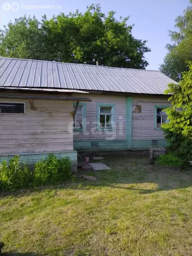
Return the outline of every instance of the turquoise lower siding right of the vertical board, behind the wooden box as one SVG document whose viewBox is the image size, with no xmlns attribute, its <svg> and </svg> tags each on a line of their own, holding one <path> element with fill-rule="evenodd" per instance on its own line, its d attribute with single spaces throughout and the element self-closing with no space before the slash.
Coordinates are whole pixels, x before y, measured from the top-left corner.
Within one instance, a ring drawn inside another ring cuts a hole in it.
<svg viewBox="0 0 192 256">
<path fill-rule="evenodd" d="M 153 139 L 154 140 L 154 139 Z M 152 140 L 132 140 L 132 150 L 145 150 L 149 149 L 150 146 L 152 147 L 168 147 L 169 144 L 166 140 L 156 140 L 157 144 L 153 145 Z"/>
</svg>

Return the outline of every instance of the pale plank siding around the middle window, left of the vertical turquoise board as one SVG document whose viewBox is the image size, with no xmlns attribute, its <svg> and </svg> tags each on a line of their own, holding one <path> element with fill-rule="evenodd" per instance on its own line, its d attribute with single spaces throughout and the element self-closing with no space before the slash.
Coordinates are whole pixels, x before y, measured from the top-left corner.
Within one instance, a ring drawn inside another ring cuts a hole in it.
<svg viewBox="0 0 192 256">
<path fill-rule="evenodd" d="M 74 94 L 74 96 L 77 96 Z M 75 141 L 112 141 L 126 140 L 126 95 L 120 94 L 89 94 L 91 102 L 86 103 L 86 131 L 74 131 Z M 97 122 L 97 103 L 115 104 L 115 130 L 98 131 Z"/>
</svg>

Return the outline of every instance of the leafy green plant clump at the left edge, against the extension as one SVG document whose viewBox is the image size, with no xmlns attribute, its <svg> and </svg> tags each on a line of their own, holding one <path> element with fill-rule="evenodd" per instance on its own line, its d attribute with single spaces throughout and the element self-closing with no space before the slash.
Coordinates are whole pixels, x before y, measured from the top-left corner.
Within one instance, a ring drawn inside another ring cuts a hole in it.
<svg viewBox="0 0 192 256">
<path fill-rule="evenodd" d="M 32 181 L 32 172 L 28 165 L 20 164 L 19 156 L 14 156 L 0 164 L 0 190 L 16 190 L 27 187 Z"/>
</svg>

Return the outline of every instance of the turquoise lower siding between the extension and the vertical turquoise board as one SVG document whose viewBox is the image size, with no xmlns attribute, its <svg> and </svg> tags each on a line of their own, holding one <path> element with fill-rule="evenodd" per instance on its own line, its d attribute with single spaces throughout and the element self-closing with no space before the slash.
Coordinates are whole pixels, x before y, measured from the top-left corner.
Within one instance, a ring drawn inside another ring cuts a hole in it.
<svg viewBox="0 0 192 256">
<path fill-rule="evenodd" d="M 74 141 L 74 149 L 79 152 L 127 150 L 127 141 Z"/>
</svg>

